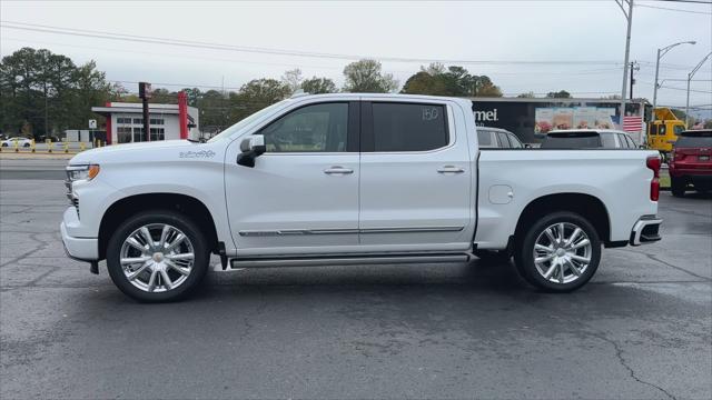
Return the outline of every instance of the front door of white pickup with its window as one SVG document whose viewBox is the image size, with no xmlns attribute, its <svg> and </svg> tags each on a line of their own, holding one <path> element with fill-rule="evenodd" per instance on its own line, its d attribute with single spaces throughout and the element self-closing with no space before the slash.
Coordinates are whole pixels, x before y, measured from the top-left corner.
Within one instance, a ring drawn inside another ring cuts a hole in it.
<svg viewBox="0 0 712 400">
<path fill-rule="evenodd" d="M 226 160 L 238 254 L 336 252 L 358 244 L 357 129 L 357 103 L 310 103 L 255 132 L 265 137 L 267 151 L 254 168 Z"/>
</svg>

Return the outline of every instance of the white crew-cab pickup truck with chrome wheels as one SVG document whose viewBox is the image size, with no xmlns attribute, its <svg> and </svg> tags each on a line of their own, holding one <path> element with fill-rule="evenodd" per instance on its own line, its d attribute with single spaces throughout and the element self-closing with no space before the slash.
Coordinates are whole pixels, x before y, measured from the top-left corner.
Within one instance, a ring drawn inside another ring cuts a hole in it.
<svg viewBox="0 0 712 400">
<path fill-rule="evenodd" d="M 565 292 L 602 247 L 660 240 L 660 158 L 646 150 L 477 146 L 464 99 L 339 93 L 280 101 L 207 142 L 119 144 L 67 167 L 71 258 L 106 259 L 140 301 L 208 270 L 514 257 Z"/>
</svg>

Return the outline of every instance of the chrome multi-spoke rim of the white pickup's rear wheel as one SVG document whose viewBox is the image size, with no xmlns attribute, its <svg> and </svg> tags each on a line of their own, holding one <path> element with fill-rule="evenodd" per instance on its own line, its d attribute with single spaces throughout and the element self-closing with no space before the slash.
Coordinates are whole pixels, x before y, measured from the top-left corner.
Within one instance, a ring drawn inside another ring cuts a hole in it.
<svg viewBox="0 0 712 400">
<path fill-rule="evenodd" d="M 534 242 L 534 266 L 544 279 L 554 283 L 577 280 L 589 268 L 593 249 L 589 236 L 571 222 L 557 222 Z"/>
</svg>

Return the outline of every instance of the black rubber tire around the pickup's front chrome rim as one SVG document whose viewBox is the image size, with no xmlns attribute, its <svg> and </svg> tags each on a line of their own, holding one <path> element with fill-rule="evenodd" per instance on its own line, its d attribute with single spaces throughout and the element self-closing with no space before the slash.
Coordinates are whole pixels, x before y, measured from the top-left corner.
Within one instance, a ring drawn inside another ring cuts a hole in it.
<svg viewBox="0 0 712 400">
<path fill-rule="evenodd" d="M 195 254 L 188 278 L 177 288 L 162 292 L 148 292 L 131 284 L 120 262 L 123 241 L 140 227 L 152 223 L 169 224 L 182 231 Z M 107 269 L 111 280 L 125 294 L 140 302 L 168 302 L 186 298 L 205 278 L 209 262 L 210 251 L 202 231 L 189 218 L 168 210 L 146 211 L 128 218 L 116 229 L 107 243 Z"/>
</svg>

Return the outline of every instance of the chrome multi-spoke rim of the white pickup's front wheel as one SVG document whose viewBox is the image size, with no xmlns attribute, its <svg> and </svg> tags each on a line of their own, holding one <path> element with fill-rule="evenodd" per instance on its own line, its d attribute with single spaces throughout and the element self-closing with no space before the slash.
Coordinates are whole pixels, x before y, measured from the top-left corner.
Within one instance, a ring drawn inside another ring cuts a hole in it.
<svg viewBox="0 0 712 400">
<path fill-rule="evenodd" d="M 146 292 L 165 292 L 182 284 L 192 270 L 190 239 L 178 228 L 151 223 L 135 230 L 121 244 L 126 279 Z"/>
</svg>

